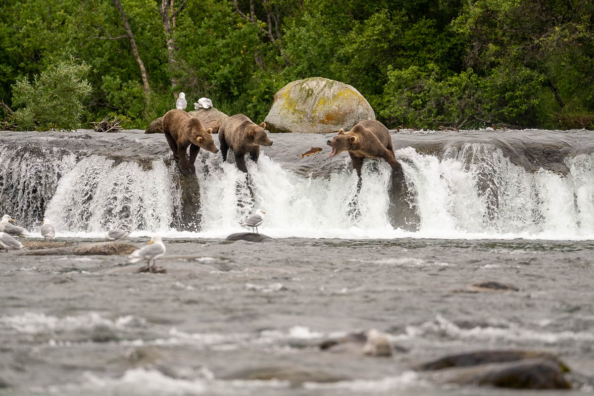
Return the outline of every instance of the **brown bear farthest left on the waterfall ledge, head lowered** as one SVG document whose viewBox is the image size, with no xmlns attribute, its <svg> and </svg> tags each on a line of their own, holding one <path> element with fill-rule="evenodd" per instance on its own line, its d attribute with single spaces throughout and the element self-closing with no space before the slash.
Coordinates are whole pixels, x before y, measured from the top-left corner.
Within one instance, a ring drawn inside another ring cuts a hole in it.
<svg viewBox="0 0 594 396">
<path fill-rule="evenodd" d="M 214 145 L 211 128 L 204 129 L 200 120 L 190 116 L 184 110 L 169 110 L 163 116 L 163 133 L 167 138 L 173 156 L 179 160 L 179 170 L 184 175 L 195 172 L 194 161 L 200 148 L 211 153 L 218 153 Z M 189 161 L 186 150 L 189 146 Z"/>
</svg>

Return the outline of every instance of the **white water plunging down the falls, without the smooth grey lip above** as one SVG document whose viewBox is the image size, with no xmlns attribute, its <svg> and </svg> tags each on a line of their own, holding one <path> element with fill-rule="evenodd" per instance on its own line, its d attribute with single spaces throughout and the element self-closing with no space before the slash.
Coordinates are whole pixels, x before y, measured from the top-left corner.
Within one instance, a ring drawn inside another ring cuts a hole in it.
<svg viewBox="0 0 594 396">
<path fill-rule="evenodd" d="M 281 143 L 290 147 L 292 138 Z M 138 152 L 147 151 L 142 144 Z M 365 162 L 356 197 L 357 178 L 348 156 L 325 174 L 304 176 L 289 157 L 279 158 L 280 151 L 262 154 L 257 164 L 248 161 L 249 176 L 201 151 L 199 191 L 193 195 L 199 205 L 188 214 L 167 151 L 139 161 L 54 147 L 20 152 L 0 146 L 5 165 L 0 169 L 0 209 L 30 229 L 48 217 L 63 236 L 99 236 L 108 227 L 130 226 L 133 235 L 225 237 L 245 230 L 239 221 L 257 208 L 267 213 L 260 231 L 272 237 L 594 236 L 592 154 L 566 157 L 568 172 L 560 175 L 527 172 L 488 143 L 444 145 L 432 155 L 400 148 L 396 157 L 419 216 L 418 230 L 409 232 L 390 225 L 393 197 L 386 163 Z M 194 218 L 198 227 L 180 227 L 180 216 Z"/>
</svg>

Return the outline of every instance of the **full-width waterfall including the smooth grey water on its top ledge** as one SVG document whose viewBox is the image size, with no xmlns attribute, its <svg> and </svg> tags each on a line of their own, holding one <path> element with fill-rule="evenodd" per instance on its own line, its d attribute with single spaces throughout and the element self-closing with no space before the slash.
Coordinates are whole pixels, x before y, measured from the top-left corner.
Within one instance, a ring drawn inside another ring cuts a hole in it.
<svg viewBox="0 0 594 396">
<path fill-rule="evenodd" d="M 328 157 L 331 135 L 271 135 L 247 180 L 204 150 L 184 178 L 163 135 L 139 132 L 2 132 L 0 212 L 30 229 L 45 214 L 61 236 L 131 226 L 132 236 L 224 237 L 257 208 L 273 237 L 594 236 L 589 131 L 393 133 L 406 197 L 391 194 L 390 167 L 377 161 L 366 161 L 356 197 L 347 154 Z M 301 159 L 312 146 L 324 150 Z"/>
</svg>

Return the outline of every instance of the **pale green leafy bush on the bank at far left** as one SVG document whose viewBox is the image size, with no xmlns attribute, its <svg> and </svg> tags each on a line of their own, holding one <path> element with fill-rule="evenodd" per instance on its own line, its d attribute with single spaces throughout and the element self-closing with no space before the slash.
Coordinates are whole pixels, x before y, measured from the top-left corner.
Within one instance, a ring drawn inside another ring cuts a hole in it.
<svg viewBox="0 0 594 396">
<path fill-rule="evenodd" d="M 12 103 L 24 107 L 14 113 L 14 122 L 25 130 L 75 129 L 80 125 L 83 100 L 91 93 L 84 80 L 89 65 L 71 59 L 50 67 L 39 76 L 24 77 L 14 85 Z"/>
</svg>

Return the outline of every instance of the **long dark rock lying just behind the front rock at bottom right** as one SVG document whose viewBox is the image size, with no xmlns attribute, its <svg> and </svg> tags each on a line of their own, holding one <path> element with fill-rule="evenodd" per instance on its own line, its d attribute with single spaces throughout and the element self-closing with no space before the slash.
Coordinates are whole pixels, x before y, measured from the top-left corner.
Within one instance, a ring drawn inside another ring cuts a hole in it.
<svg viewBox="0 0 594 396">
<path fill-rule="evenodd" d="M 563 371 L 569 371 L 568 367 L 552 353 L 523 350 L 486 350 L 448 355 L 416 366 L 415 370 L 441 370 L 451 367 L 477 366 L 485 363 L 515 362 L 523 359 L 551 360 L 556 362 Z"/>
</svg>

